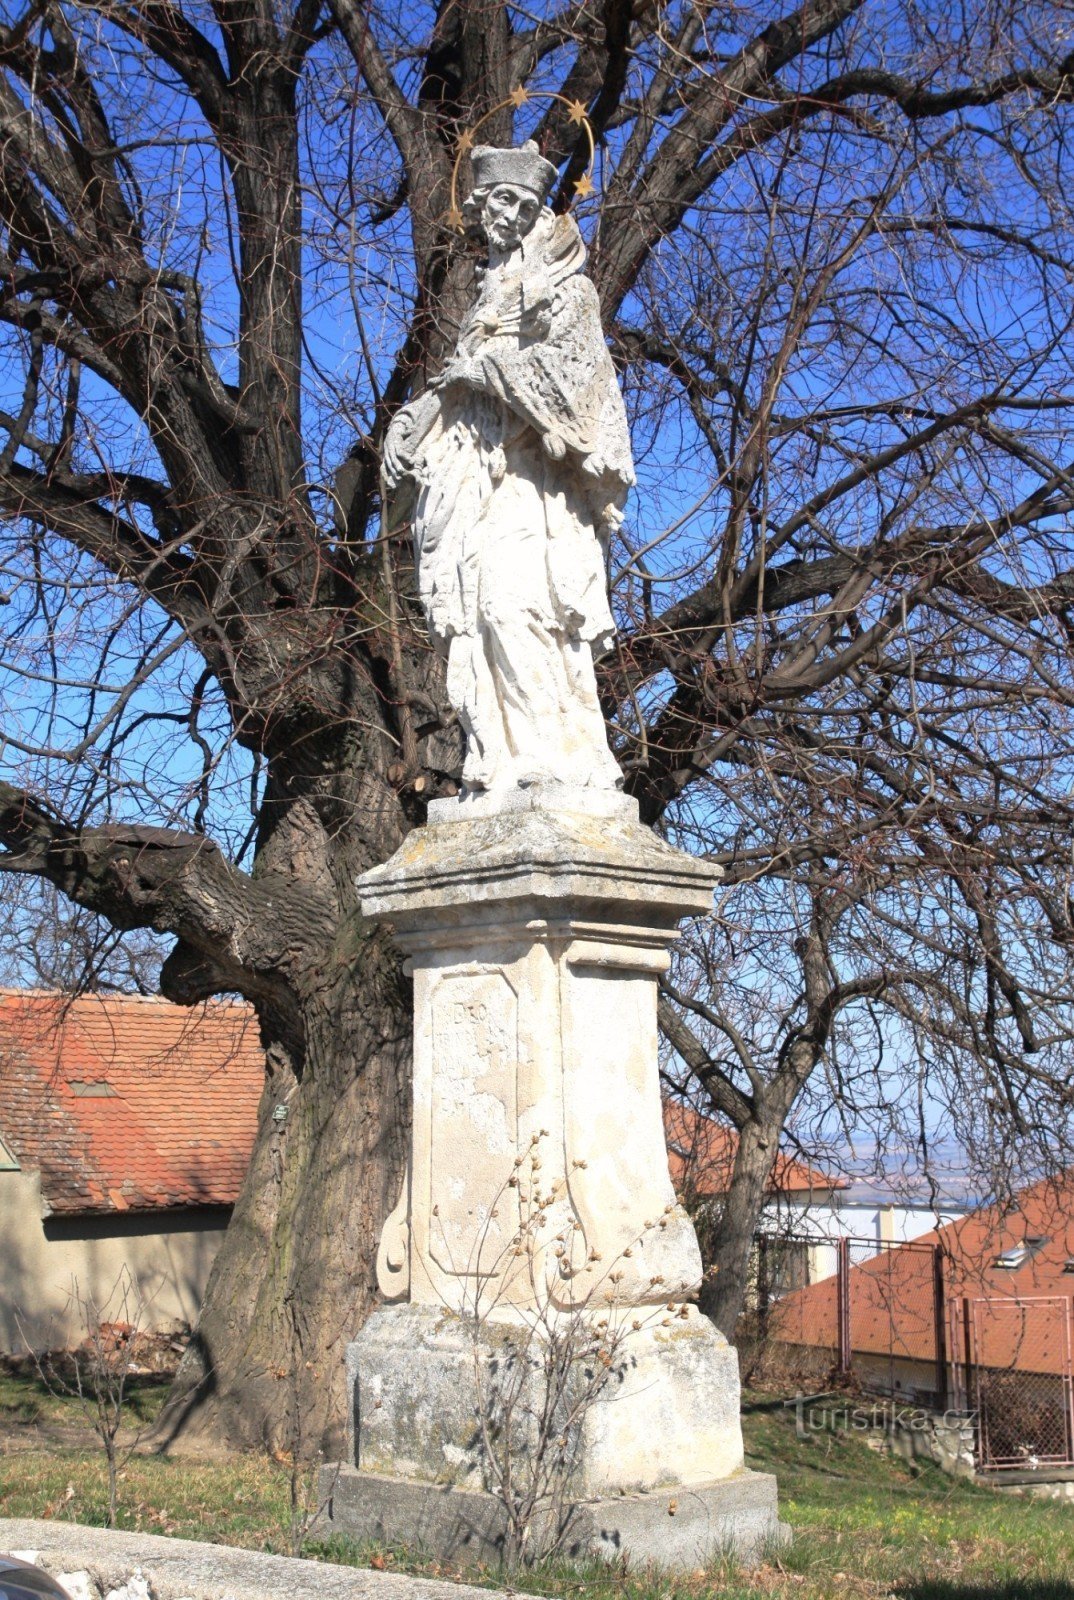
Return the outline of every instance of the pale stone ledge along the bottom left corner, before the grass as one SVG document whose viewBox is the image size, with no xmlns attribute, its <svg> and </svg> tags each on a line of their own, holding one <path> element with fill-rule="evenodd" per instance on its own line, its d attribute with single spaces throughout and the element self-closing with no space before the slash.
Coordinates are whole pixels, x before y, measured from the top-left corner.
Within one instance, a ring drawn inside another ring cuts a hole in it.
<svg viewBox="0 0 1074 1600">
<path fill-rule="evenodd" d="M 77 1571 L 99 1594 L 123 1589 L 141 1574 L 152 1600 L 488 1600 L 487 1589 L 467 1584 L 72 1522 L 0 1518 L 0 1550 L 32 1557 L 54 1576 Z"/>
</svg>

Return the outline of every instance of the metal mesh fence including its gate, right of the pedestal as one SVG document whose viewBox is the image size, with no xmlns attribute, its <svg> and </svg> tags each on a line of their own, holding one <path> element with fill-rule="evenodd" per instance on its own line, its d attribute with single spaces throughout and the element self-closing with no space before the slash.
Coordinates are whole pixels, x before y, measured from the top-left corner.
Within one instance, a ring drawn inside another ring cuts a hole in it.
<svg viewBox="0 0 1074 1600">
<path fill-rule="evenodd" d="M 759 1240 L 736 1344 L 760 1387 L 852 1387 L 973 1422 L 980 1470 L 1074 1466 L 1066 1296 L 949 1291 L 938 1243 Z"/>
</svg>

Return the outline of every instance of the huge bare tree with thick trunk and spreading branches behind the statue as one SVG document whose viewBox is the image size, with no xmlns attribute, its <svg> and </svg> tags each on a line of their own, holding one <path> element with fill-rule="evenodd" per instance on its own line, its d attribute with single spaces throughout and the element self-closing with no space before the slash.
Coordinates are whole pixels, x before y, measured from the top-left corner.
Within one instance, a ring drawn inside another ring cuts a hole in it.
<svg viewBox="0 0 1074 1600">
<path fill-rule="evenodd" d="M 304 1414 L 341 1432 L 410 1048 L 352 883 L 459 766 L 379 443 L 471 294 L 459 136 L 535 133 L 571 202 L 586 141 L 541 93 L 599 141 L 576 210 L 640 466 L 611 738 L 643 818 L 728 869 L 663 1011 L 739 1128 L 728 1238 L 810 1085 L 853 1114 L 880 1011 L 1042 1130 L 1069 1034 L 1063 6 L 27 0 L 0 66 L 0 866 L 168 936 L 162 990 L 248 997 L 267 1056 L 171 1427 L 279 1443 L 299 1306 L 336 1374 Z"/>
</svg>

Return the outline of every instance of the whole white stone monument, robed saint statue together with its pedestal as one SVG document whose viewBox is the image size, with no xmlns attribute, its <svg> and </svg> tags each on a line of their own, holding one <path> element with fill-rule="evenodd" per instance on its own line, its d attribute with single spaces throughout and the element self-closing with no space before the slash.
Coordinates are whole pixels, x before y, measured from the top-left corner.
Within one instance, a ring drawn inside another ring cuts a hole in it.
<svg viewBox="0 0 1074 1600">
<path fill-rule="evenodd" d="M 634 470 L 583 242 L 535 146 L 472 160 L 477 302 L 384 445 L 466 794 L 355 883 L 413 974 L 411 1118 L 322 1494 L 351 1538 L 451 1560 L 496 1560 L 525 1504 L 531 1552 L 693 1571 L 786 1531 L 743 1466 L 738 1357 L 691 1304 L 661 1114 L 658 982 L 720 869 L 642 826 L 597 704 Z"/>
</svg>

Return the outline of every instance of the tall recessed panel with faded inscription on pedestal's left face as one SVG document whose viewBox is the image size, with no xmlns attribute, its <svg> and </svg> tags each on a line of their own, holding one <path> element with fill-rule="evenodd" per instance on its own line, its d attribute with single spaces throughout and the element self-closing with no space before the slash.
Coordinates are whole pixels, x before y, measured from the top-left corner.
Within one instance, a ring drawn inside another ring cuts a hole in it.
<svg viewBox="0 0 1074 1600">
<path fill-rule="evenodd" d="M 445 1272 L 503 1272 L 517 1206 L 519 1003 L 503 973 L 458 973 L 432 997 L 429 1251 Z"/>
</svg>

